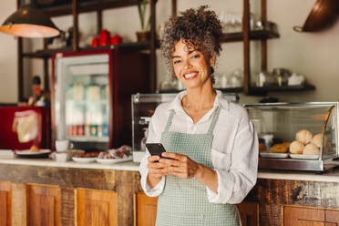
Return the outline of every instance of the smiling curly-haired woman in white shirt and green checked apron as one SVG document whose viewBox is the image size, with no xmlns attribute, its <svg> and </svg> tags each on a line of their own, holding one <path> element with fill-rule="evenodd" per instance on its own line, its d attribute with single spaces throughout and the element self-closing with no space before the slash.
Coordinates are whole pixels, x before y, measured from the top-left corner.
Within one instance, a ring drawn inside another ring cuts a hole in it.
<svg viewBox="0 0 339 226">
<path fill-rule="evenodd" d="M 159 105 L 149 124 L 148 142 L 167 152 L 140 164 L 143 189 L 159 196 L 157 225 L 240 225 L 233 204 L 256 182 L 258 140 L 247 112 L 212 87 L 220 38 L 207 6 L 170 18 L 161 36 L 169 69 L 187 90 Z"/>
</svg>

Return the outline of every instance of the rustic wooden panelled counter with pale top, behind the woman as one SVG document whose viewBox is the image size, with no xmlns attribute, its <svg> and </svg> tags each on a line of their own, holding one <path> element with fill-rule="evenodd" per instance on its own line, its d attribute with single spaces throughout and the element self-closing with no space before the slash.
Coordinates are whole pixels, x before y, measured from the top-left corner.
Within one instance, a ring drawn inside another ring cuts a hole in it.
<svg viewBox="0 0 339 226">
<path fill-rule="evenodd" d="M 157 200 L 142 192 L 138 170 L 133 162 L 0 159 L 0 209 L 6 212 L 0 225 L 153 225 Z M 338 179 L 339 169 L 323 175 L 261 170 L 239 206 L 241 220 L 261 226 L 339 225 Z"/>
</svg>

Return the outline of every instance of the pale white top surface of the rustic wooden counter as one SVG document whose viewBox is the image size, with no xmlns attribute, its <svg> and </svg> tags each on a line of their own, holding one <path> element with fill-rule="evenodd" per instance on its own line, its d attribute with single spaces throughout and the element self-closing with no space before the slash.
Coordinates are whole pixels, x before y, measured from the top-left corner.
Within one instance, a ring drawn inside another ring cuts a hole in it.
<svg viewBox="0 0 339 226">
<path fill-rule="evenodd" d="M 139 163 L 133 161 L 105 165 L 97 162 L 91 163 L 77 163 L 74 161 L 59 162 L 53 159 L 0 159 L 0 164 L 1 163 L 13 165 L 62 167 L 78 169 L 139 171 Z M 258 179 L 339 182 L 339 168 L 328 170 L 323 174 L 319 174 L 312 171 L 259 170 Z"/>
</svg>

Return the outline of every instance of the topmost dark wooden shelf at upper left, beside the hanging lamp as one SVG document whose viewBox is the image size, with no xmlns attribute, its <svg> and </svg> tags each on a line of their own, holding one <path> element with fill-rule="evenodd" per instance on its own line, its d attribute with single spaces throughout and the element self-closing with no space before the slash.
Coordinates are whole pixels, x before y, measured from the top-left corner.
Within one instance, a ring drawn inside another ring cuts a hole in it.
<svg viewBox="0 0 339 226">
<path fill-rule="evenodd" d="M 137 5 L 137 0 L 82 0 L 77 2 L 78 13 Z M 72 15 L 72 1 L 67 1 L 65 4 L 59 5 L 41 5 L 39 8 L 44 9 L 49 16 Z"/>
</svg>

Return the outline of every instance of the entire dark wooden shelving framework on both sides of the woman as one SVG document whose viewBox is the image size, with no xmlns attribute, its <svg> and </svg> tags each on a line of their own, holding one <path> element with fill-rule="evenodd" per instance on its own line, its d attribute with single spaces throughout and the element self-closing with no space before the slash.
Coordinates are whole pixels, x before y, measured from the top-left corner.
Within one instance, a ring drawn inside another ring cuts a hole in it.
<svg viewBox="0 0 339 226">
<path fill-rule="evenodd" d="M 19 0 L 17 0 L 19 2 Z M 150 55 L 150 76 L 152 78 L 152 90 L 156 90 L 157 87 L 157 58 L 156 49 L 159 47 L 159 41 L 156 35 L 156 2 L 157 0 L 149 0 L 150 7 L 150 31 L 151 36 L 149 42 L 144 43 L 124 43 L 115 46 L 100 46 L 96 48 L 136 48 L 140 50 L 149 49 Z M 271 30 L 250 30 L 250 0 L 243 0 L 243 18 L 242 18 L 242 32 L 224 34 L 221 38 L 221 42 L 243 42 L 243 85 L 242 87 L 225 88 L 222 89 L 225 92 L 244 92 L 248 95 L 266 95 L 267 92 L 275 91 L 304 91 L 313 90 L 315 87 L 306 84 L 303 87 L 252 87 L 251 86 L 251 71 L 250 71 L 250 41 L 257 40 L 261 42 L 261 70 L 267 71 L 267 40 L 271 38 L 279 38 L 279 34 Z M 41 58 L 44 60 L 44 77 L 45 77 L 45 89 L 48 89 L 48 58 L 53 56 L 57 52 L 67 51 L 82 51 L 88 50 L 88 48 L 78 47 L 78 14 L 87 12 L 97 12 L 98 17 L 98 32 L 102 30 L 102 11 L 105 9 L 119 8 L 125 6 L 137 5 L 137 0 L 71 0 L 71 3 L 63 5 L 54 5 L 43 9 L 50 16 L 59 15 L 73 15 L 73 43 L 71 47 L 60 49 L 47 49 L 46 42 L 43 50 L 39 50 L 33 53 L 23 52 L 22 38 L 18 41 L 18 81 L 19 81 L 19 99 L 23 100 L 23 58 Z M 171 13 L 176 15 L 177 13 L 177 0 L 171 0 Z M 261 0 L 261 21 L 267 22 L 266 16 L 266 0 Z M 93 48 L 90 48 L 93 49 Z"/>
</svg>

